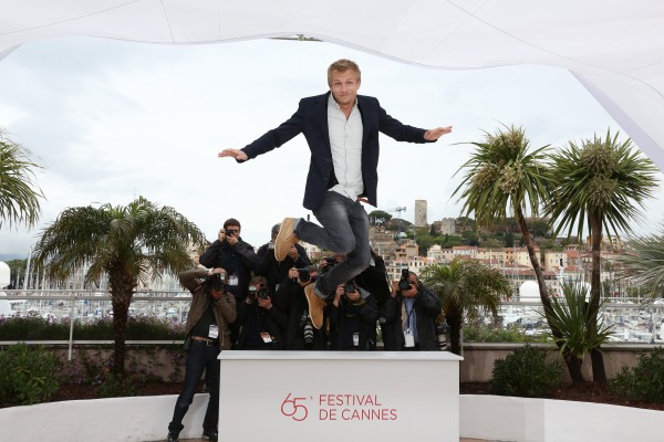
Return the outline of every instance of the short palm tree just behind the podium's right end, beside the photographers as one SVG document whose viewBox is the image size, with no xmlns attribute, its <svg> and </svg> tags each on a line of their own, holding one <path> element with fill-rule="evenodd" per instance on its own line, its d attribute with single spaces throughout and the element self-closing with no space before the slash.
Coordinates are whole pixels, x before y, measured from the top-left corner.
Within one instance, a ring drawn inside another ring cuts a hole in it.
<svg viewBox="0 0 664 442">
<path fill-rule="evenodd" d="M 476 319 L 480 313 L 496 316 L 501 298 L 509 298 L 509 281 L 498 270 L 474 261 L 453 260 L 435 264 L 422 272 L 422 282 L 438 295 L 443 315 L 449 325 L 452 352 L 461 354 L 464 319 Z"/>
</svg>

